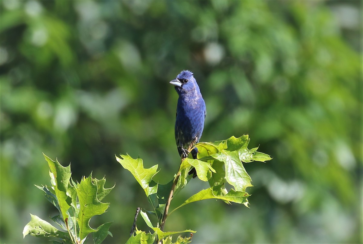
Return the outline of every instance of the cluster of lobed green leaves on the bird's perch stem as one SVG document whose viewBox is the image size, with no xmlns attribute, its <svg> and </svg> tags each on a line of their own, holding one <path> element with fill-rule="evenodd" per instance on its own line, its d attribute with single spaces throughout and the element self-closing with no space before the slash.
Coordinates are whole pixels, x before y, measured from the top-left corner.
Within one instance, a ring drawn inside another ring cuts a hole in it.
<svg viewBox="0 0 363 244">
<path fill-rule="evenodd" d="M 210 187 L 199 191 L 197 194 L 185 200 L 180 206 L 174 208 L 168 216 L 186 204 L 205 199 L 220 199 L 227 204 L 234 202 L 244 204 L 248 207 L 247 198 L 249 194 L 246 192 L 246 188 L 252 187 L 252 184 L 251 178 L 246 172 L 242 162 L 266 162 L 267 160 L 272 159 L 269 155 L 258 152 L 258 147 L 248 149 L 247 146 L 249 141 L 248 135 L 243 135 L 239 138 L 232 136 L 223 141 L 197 143 L 195 147 L 197 147 L 199 151 L 198 158 L 193 159 L 189 154 L 188 158 L 181 161 L 178 173 L 174 178 L 177 182 L 171 197 L 178 194 L 178 192 L 188 184 L 192 178 L 188 172 L 192 167 L 195 168 L 198 178 L 205 182 L 208 181 Z M 144 168 L 142 159 L 133 159 L 128 154 L 120 155 L 120 157 L 116 156 L 116 159 L 122 167 L 129 170 L 135 177 L 143 188 L 148 201 L 152 206 L 151 211 L 141 211 L 141 216 L 154 233 L 146 233 L 137 230 L 127 243 L 140 243 L 138 242 L 140 240 L 143 240 L 141 243 L 152 243 L 156 237 L 162 243 L 172 243 L 171 235 L 184 232 L 195 233 L 195 231 L 191 230 L 163 232 L 160 229 L 162 216 L 174 180 L 167 184 L 160 184 L 152 180 L 159 172 L 157 164 L 151 168 Z M 226 185 L 229 186 L 229 191 L 227 190 Z M 156 226 L 151 223 L 147 213 L 156 216 L 158 219 Z M 188 243 L 191 241 L 190 238 L 191 237 L 183 238 L 179 236 L 176 243 Z"/>
</svg>

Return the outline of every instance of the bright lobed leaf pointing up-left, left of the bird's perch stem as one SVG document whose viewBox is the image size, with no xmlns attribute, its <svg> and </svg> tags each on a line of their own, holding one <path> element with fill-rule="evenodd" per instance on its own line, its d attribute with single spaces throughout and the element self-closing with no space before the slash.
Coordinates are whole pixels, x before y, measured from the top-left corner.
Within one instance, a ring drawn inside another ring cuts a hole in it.
<svg viewBox="0 0 363 244">
<path fill-rule="evenodd" d="M 149 183 L 151 182 L 152 177 L 157 173 L 158 164 L 151 168 L 144 168 L 142 159 L 133 159 L 128 154 L 120 155 L 120 158 L 116 156 L 116 160 L 122 167 L 131 172 L 140 186 L 144 189 L 146 196 L 156 193 L 157 185 L 149 187 Z"/>
</svg>

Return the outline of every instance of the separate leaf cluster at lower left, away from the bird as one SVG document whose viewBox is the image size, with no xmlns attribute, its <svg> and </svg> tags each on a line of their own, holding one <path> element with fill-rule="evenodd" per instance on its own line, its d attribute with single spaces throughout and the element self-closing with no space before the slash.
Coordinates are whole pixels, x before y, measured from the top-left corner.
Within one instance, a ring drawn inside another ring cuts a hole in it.
<svg viewBox="0 0 363 244">
<path fill-rule="evenodd" d="M 46 199 L 59 211 L 59 214 L 51 217 L 61 230 L 57 229 L 45 220 L 32 215 L 25 225 L 23 236 L 54 237 L 53 243 L 82 244 L 87 236 L 92 233 L 95 244 L 102 243 L 107 235 L 111 235 L 109 228 L 111 222 L 93 229 L 89 225 L 91 217 L 103 214 L 109 207 L 109 203 L 101 200 L 113 189 L 105 188 L 106 179 L 92 178 L 90 176 L 74 182 L 71 178 L 70 164 L 63 167 L 58 160 L 53 161 L 44 155 L 49 165 L 50 186 L 36 186 L 45 193 Z"/>
</svg>

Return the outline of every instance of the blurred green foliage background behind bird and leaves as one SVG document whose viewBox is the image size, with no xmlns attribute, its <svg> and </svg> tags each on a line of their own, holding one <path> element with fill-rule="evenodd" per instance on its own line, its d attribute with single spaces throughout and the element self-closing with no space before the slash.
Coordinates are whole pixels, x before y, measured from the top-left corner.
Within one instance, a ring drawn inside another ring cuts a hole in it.
<svg viewBox="0 0 363 244">
<path fill-rule="evenodd" d="M 273 156 L 245 164 L 250 208 L 205 200 L 167 220 L 194 243 L 362 241 L 360 1 L 0 1 L 1 243 L 40 243 L 29 213 L 56 209 L 42 152 L 116 184 L 106 214 L 125 243 L 144 193 L 115 154 L 178 168 L 177 94 L 194 72 L 207 105 L 201 141 L 249 134 Z M 178 206 L 207 187 L 192 180 Z M 51 221 L 51 220 L 49 220 Z M 142 219 L 139 228 L 148 230 Z"/>
</svg>

